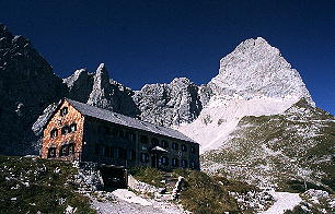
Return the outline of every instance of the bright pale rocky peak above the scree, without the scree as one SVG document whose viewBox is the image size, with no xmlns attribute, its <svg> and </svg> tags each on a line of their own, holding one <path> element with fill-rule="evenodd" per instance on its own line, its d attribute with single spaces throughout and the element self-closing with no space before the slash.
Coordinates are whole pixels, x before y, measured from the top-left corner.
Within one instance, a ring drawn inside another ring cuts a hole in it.
<svg viewBox="0 0 335 214">
<path fill-rule="evenodd" d="M 264 38 L 247 39 L 220 60 L 209 85 L 217 95 L 286 98 L 304 97 L 315 105 L 299 72 Z"/>
</svg>

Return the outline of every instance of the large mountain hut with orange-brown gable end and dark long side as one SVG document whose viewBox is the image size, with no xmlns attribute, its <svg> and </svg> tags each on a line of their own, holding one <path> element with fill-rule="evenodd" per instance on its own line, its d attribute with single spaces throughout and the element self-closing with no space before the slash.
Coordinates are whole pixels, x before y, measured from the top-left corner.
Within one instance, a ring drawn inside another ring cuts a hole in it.
<svg viewBox="0 0 335 214">
<path fill-rule="evenodd" d="M 111 121 L 108 114 L 126 122 Z M 139 126 L 134 126 L 136 123 Z M 140 126 L 148 129 L 140 129 Z M 176 133 L 176 138 L 151 131 L 154 129 L 168 128 L 63 99 L 45 124 L 42 157 L 166 170 L 180 167 L 199 169 L 197 143 L 175 130 L 170 131 Z"/>
</svg>

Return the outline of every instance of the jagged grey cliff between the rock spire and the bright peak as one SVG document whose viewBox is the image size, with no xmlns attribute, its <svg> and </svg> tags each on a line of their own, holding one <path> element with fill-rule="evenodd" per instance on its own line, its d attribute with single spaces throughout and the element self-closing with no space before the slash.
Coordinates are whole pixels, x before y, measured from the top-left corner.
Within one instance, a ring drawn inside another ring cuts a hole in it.
<svg viewBox="0 0 335 214">
<path fill-rule="evenodd" d="M 161 126 L 190 122 L 197 118 L 206 102 L 206 93 L 186 78 L 169 84 L 145 85 L 134 95 L 140 118 Z"/>
</svg>

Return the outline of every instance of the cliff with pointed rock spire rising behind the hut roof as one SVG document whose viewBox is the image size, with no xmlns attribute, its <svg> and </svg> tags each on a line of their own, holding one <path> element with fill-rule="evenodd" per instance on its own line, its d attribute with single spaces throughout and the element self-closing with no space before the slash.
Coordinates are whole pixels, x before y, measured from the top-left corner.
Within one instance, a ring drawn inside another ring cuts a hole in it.
<svg viewBox="0 0 335 214">
<path fill-rule="evenodd" d="M 69 98 L 131 117 L 138 115 L 132 90 L 111 80 L 104 63 L 94 73 L 77 70 L 63 82 L 68 85 Z"/>
</svg>

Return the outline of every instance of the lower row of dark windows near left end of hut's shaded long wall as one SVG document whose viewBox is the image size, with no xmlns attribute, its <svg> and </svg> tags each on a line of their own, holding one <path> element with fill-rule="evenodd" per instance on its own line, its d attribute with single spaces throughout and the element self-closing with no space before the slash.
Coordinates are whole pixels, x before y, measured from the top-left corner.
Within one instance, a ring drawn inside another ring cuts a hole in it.
<svg viewBox="0 0 335 214">
<path fill-rule="evenodd" d="M 129 160 L 136 159 L 136 153 L 134 150 L 125 150 L 122 147 L 113 147 L 101 144 L 95 144 L 95 155 Z"/>
</svg>

